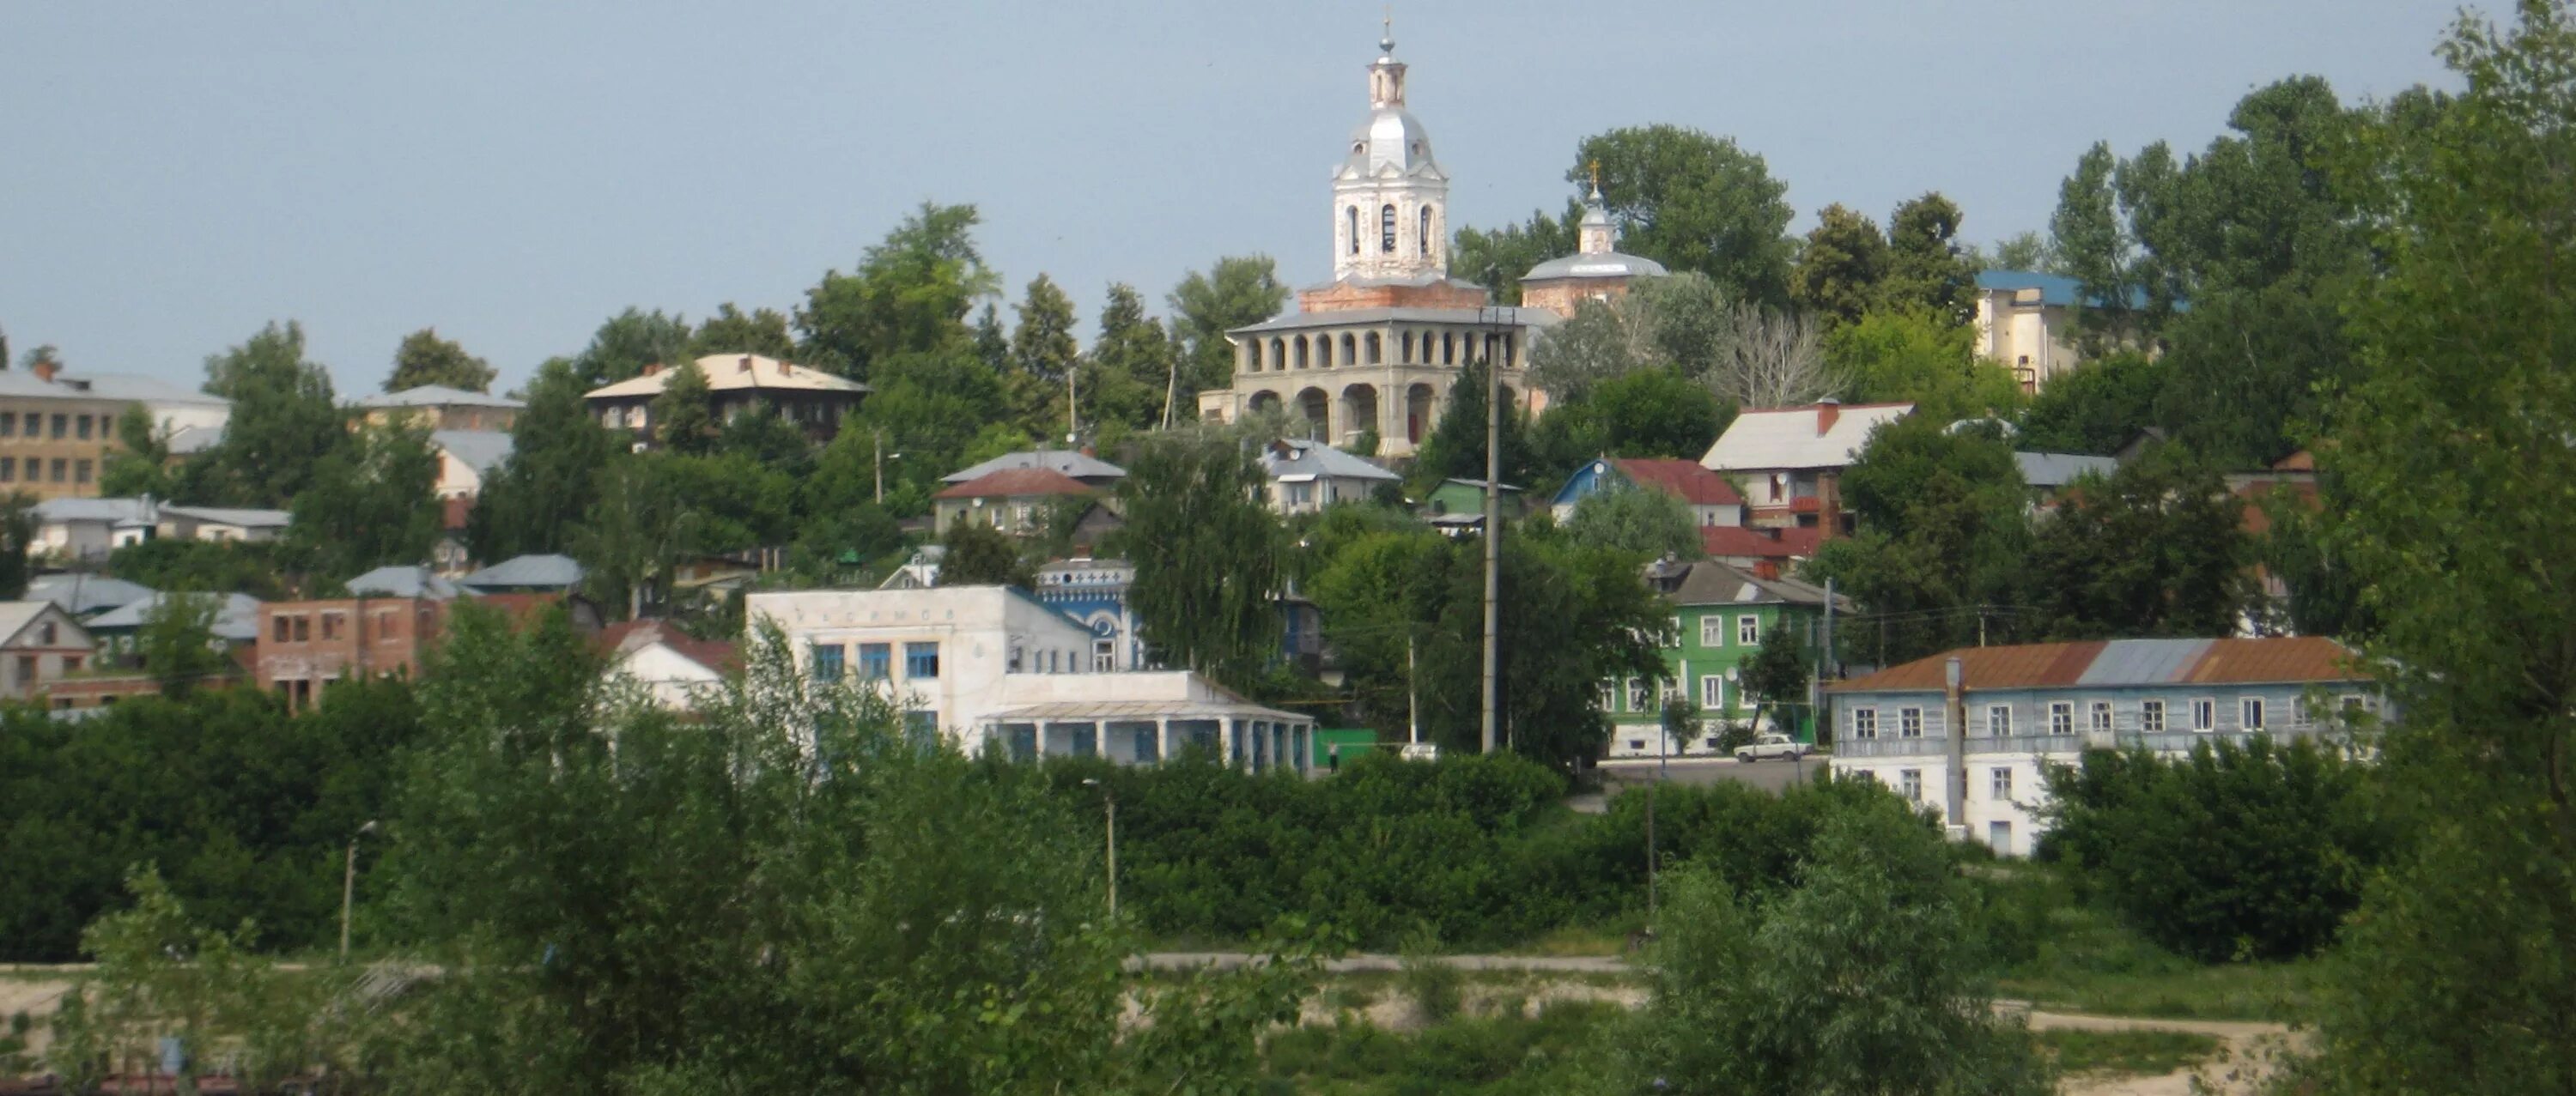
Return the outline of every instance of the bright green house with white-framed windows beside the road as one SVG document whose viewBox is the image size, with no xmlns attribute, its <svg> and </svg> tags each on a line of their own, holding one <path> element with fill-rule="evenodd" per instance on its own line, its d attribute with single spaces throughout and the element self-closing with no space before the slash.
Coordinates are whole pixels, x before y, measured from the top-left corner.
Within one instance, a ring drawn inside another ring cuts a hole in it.
<svg viewBox="0 0 2576 1096">
<path fill-rule="evenodd" d="M 1744 695 L 1744 664 L 1762 641 L 1788 628 L 1798 643 L 1816 648 L 1824 620 L 1824 589 L 1793 579 L 1765 579 L 1713 561 L 1646 563 L 1646 584 L 1672 605 L 1672 633 L 1664 643 L 1664 677 L 1602 682 L 1602 715 L 1610 718 L 1610 756 L 1682 756 L 1718 749 L 1728 723 L 1754 723 L 1754 700 Z M 1842 610 L 1850 610 L 1844 599 Z M 1664 733 L 1664 702 L 1690 697 L 1700 708 L 1700 728 L 1690 736 Z M 1759 715 L 1762 731 L 1788 731 L 1814 741 L 1814 708 L 1806 697 L 1775 705 Z"/>
</svg>

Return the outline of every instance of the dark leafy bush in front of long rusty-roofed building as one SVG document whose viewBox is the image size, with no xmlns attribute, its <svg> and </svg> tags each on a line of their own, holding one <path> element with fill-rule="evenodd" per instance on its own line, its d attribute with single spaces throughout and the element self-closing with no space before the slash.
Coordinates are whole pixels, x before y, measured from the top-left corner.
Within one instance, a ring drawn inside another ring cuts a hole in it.
<svg viewBox="0 0 2576 1096">
<path fill-rule="evenodd" d="M 2174 762 L 2089 751 L 2048 790 L 2048 844 L 2074 880 L 2202 962 L 2326 947 L 2393 841 L 2365 772 L 2311 741 L 2202 744 Z"/>
</svg>

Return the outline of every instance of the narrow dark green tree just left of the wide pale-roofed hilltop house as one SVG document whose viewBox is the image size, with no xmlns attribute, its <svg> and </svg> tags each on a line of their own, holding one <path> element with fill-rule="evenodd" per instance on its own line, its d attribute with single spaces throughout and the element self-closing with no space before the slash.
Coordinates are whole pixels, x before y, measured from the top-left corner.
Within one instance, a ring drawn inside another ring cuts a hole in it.
<svg viewBox="0 0 2576 1096">
<path fill-rule="evenodd" d="M 554 358 L 528 381 L 528 406 L 510 427 L 510 458 L 484 473 L 466 517 L 479 561 L 572 548 L 574 527 L 598 499 L 598 481 L 621 458 L 618 440 L 582 401 L 582 368 Z"/>
</svg>

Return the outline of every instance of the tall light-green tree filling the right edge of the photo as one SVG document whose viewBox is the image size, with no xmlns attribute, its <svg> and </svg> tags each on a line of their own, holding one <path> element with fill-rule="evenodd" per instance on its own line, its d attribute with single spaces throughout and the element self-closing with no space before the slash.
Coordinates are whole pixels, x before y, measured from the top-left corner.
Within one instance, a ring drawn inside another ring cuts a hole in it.
<svg viewBox="0 0 2576 1096">
<path fill-rule="evenodd" d="M 2372 744 L 2416 831 L 2344 926 L 2321 1042 L 2339 1091 L 2530 1093 L 2576 1078 L 2576 512 L 2532 494 L 2576 476 L 2576 18 L 2460 15 L 2439 54 L 2465 90 L 2391 100 L 2336 165 L 2385 273 L 2347 304 L 2326 543 L 2370 589 Z"/>
</svg>

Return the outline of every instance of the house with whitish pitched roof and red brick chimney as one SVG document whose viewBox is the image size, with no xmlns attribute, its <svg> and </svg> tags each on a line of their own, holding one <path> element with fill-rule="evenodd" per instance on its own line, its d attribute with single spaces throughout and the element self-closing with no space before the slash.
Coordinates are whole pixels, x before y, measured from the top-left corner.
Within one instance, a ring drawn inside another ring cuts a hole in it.
<svg viewBox="0 0 2576 1096">
<path fill-rule="evenodd" d="M 1767 406 L 1736 414 L 1700 466 L 1736 484 L 1744 525 L 1850 533 L 1842 468 L 1860 461 L 1870 430 L 1914 414 L 1914 404 Z"/>
</svg>

